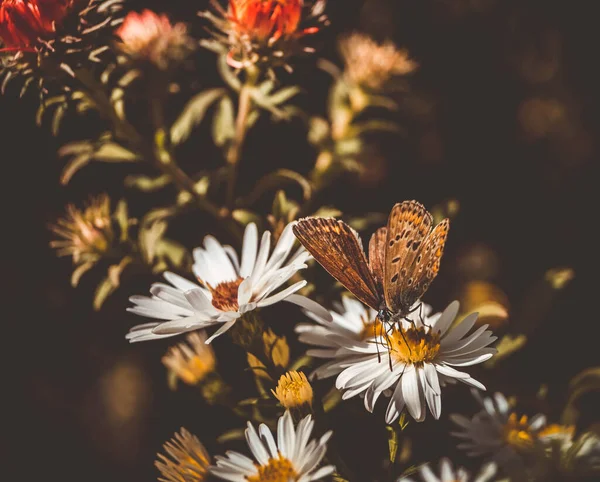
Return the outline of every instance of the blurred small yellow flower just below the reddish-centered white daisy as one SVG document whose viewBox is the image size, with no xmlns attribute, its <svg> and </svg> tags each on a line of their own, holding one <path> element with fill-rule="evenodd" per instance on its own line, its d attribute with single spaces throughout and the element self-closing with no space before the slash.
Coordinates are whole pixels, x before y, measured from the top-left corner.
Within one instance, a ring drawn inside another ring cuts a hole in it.
<svg viewBox="0 0 600 482">
<path fill-rule="evenodd" d="M 210 345 L 204 343 L 206 334 L 194 332 L 187 336 L 187 343 L 179 343 L 169 349 L 162 358 L 163 364 L 188 385 L 196 385 L 214 371 L 216 358 Z"/>
</svg>

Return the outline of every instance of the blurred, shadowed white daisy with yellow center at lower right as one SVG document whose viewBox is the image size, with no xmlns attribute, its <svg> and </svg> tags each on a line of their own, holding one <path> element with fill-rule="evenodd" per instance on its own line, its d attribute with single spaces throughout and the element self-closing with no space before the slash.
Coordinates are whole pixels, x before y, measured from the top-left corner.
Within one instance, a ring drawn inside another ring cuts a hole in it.
<svg viewBox="0 0 600 482">
<path fill-rule="evenodd" d="M 523 457 L 542 449 L 540 438 L 544 435 L 546 417 L 542 414 L 531 419 L 519 416 L 501 393 L 495 393 L 493 398 L 481 398 L 476 391 L 473 395 L 483 410 L 471 419 L 450 415 L 462 429 L 452 433 L 462 440 L 458 447 L 470 456 L 491 457 L 509 473 L 523 470 Z"/>
</svg>

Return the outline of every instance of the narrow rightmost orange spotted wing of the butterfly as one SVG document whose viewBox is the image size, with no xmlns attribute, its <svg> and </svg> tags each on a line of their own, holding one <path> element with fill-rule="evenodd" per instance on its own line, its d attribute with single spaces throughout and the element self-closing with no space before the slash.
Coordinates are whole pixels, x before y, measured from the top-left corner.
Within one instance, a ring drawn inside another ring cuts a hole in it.
<svg viewBox="0 0 600 482">
<path fill-rule="evenodd" d="M 450 221 L 448 219 L 444 219 L 433 228 L 433 231 L 423 242 L 417 257 L 408 266 L 406 278 L 408 281 L 412 279 L 413 282 L 400 295 L 402 304 L 406 309 L 409 309 L 425 294 L 429 285 L 437 276 L 449 229 Z"/>
</svg>

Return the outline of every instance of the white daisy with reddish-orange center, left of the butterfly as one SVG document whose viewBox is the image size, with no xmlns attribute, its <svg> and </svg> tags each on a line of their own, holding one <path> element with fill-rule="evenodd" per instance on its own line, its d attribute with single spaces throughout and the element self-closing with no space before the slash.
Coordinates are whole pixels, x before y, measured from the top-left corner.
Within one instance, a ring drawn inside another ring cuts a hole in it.
<svg viewBox="0 0 600 482">
<path fill-rule="evenodd" d="M 248 224 L 241 263 L 231 246 L 223 246 L 213 236 L 206 236 L 204 247 L 196 248 L 193 253 L 193 272 L 200 285 L 166 272 L 164 277 L 170 284 L 154 283 L 150 288 L 151 297 L 132 296 L 130 301 L 135 306 L 128 311 L 161 321 L 138 325 L 127 338 L 131 342 L 155 340 L 219 325 L 206 341 L 210 343 L 229 330 L 244 313 L 279 301 L 288 301 L 328 317 L 329 312 L 318 303 L 295 294 L 306 281 L 276 292 L 298 270 L 306 268 L 305 263 L 310 258 L 303 247 L 290 256 L 296 240 L 293 224 L 285 227 L 270 256 L 271 233 L 263 234 L 259 246 L 256 225 Z"/>
</svg>

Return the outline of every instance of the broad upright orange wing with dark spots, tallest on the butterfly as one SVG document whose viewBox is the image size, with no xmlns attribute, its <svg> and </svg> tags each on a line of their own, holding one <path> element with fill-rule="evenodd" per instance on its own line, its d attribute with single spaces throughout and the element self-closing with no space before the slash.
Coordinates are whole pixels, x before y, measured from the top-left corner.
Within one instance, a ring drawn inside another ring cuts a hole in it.
<svg viewBox="0 0 600 482">
<path fill-rule="evenodd" d="M 417 201 L 396 204 L 388 218 L 385 245 L 383 290 L 388 308 L 397 313 L 406 306 L 407 293 L 414 291 L 417 282 L 409 276 L 409 269 L 423 249 L 431 232 L 433 218 Z"/>
</svg>

